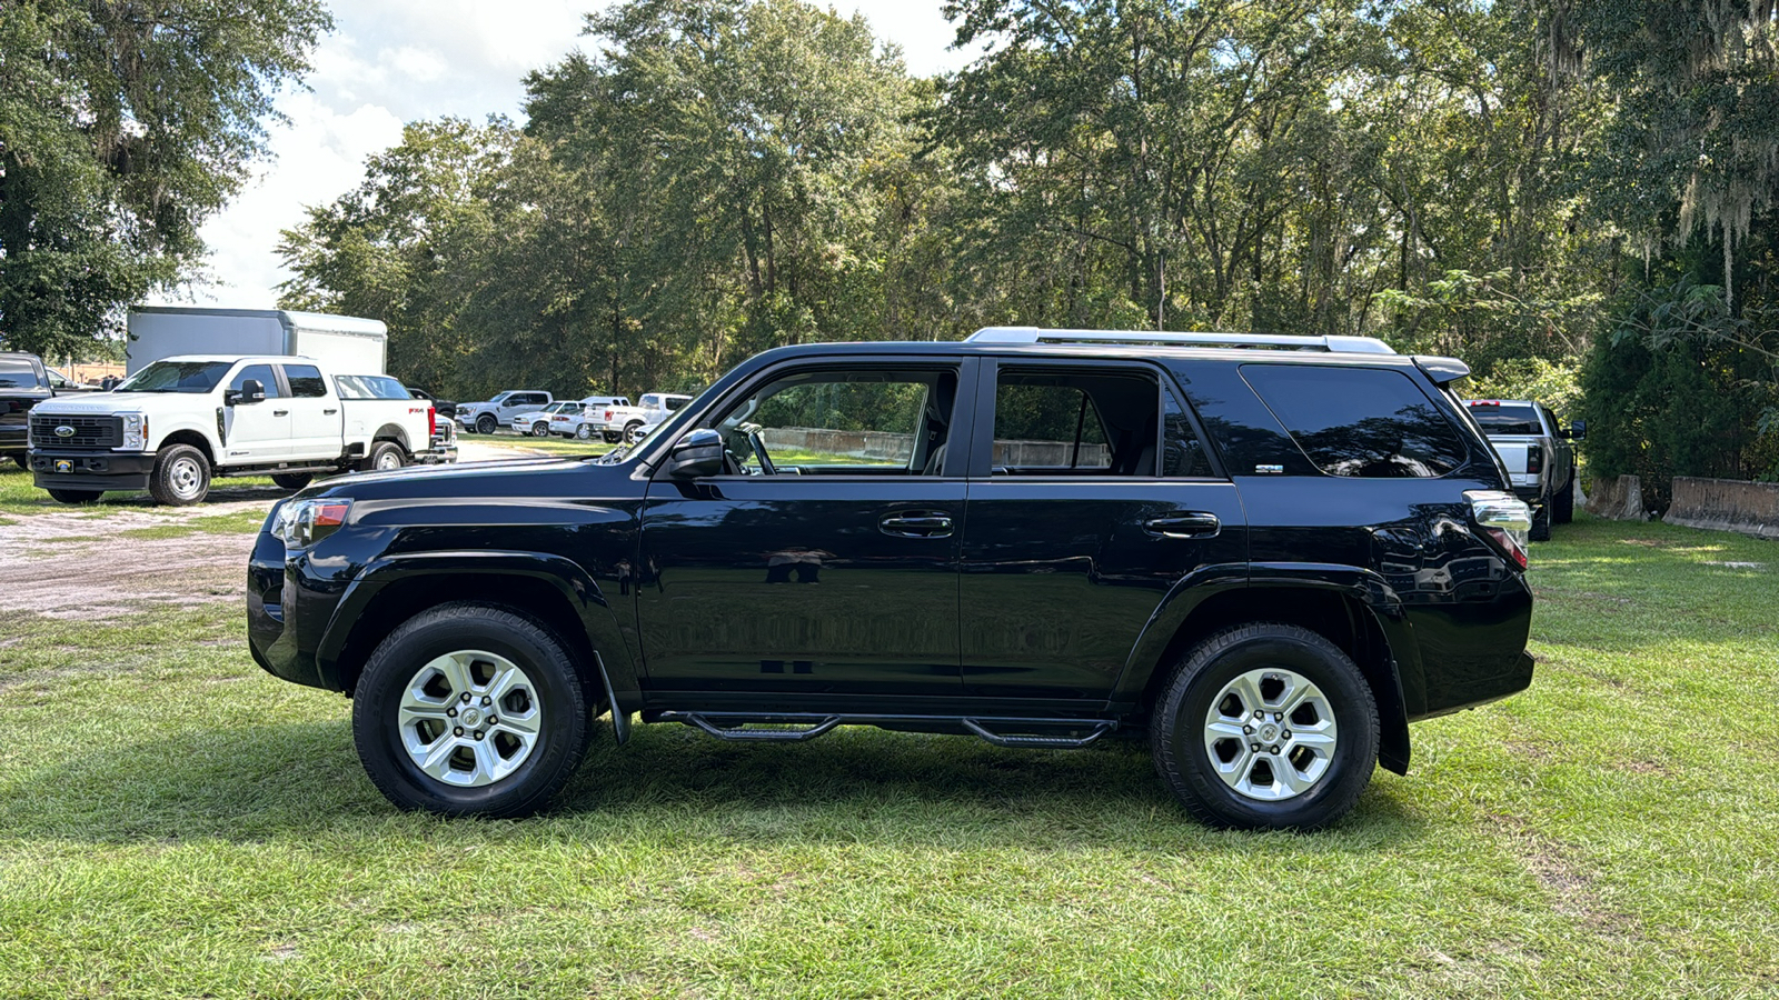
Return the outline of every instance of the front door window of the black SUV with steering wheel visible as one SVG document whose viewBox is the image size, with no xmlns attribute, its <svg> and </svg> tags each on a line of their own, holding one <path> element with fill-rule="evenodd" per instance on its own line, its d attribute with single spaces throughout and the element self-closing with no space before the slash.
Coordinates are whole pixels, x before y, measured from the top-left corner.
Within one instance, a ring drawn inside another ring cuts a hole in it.
<svg viewBox="0 0 1779 1000">
<path fill-rule="evenodd" d="M 952 368 L 799 372 L 715 429 L 731 475 L 939 475 L 955 402 Z"/>
</svg>

